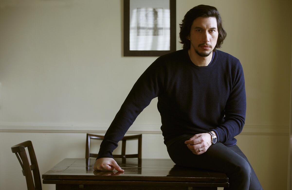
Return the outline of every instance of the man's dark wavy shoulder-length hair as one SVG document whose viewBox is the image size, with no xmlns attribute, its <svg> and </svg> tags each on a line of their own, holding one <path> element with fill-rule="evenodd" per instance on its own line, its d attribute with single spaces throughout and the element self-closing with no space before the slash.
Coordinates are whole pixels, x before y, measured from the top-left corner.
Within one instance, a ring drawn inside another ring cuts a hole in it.
<svg viewBox="0 0 292 190">
<path fill-rule="evenodd" d="M 218 40 L 215 45 L 214 50 L 220 48 L 224 39 L 227 36 L 226 31 L 223 29 L 222 20 L 217 8 L 208 6 L 208 5 L 198 5 L 194 8 L 190 9 L 182 20 L 180 24 L 180 43 L 183 44 L 183 49 L 190 49 L 191 43 L 190 40 L 187 39 L 187 36 L 190 35 L 191 26 L 193 21 L 197 17 L 215 17 L 217 20 L 218 27 Z"/>
</svg>

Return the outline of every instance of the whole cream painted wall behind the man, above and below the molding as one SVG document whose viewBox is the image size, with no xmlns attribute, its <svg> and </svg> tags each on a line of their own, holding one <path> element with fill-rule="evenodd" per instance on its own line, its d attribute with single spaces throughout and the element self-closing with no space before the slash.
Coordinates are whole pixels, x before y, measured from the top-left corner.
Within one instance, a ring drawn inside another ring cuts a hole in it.
<svg viewBox="0 0 292 190">
<path fill-rule="evenodd" d="M 265 190 L 286 189 L 292 3 L 178 0 L 177 36 L 185 13 L 199 4 L 218 8 L 227 31 L 221 50 L 244 68 L 247 113 L 238 145 Z M 105 133 L 156 59 L 122 56 L 122 10 L 121 0 L 0 1 L 1 190 L 25 189 L 10 150 L 19 142 L 32 140 L 41 173 L 65 157 L 84 157 L 85 133 Z M 143 133 L 143 158 L 169 158 L 156 103 L 129 130 Z"/>
</svg>

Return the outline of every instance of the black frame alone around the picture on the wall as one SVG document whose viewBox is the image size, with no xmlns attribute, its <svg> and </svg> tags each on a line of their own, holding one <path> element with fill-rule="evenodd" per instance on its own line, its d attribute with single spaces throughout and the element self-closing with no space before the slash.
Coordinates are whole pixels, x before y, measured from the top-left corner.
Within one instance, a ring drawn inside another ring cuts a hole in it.
<svg viewBox="0 0 292 190">
<path fill-rule="evenodd" d="M 169 50 L 130 50 L 130 1 L 124 0 L 124 56 L 161 56 L 176 50 L 176 0 L 169 0 L 170 39 Z M 156 0 L 161 1 L 161 0 Z M 164 0 L 165 1 L 165 0 Z M 147 1 L 144 1 L 147 2 Z M 149 7 L 152 5 L 150 4 Z M 153 8 L 155 11 L 155 9 Z M 137 29 L 138 30 L 138 29 Z M 157 35 L 154 35 L 157 36 Z M 154 37 L 153 37 L 154 38 Z M 160 42 L 156 42 L 160 43 Z M 168 39 L 165 42 L 168 44 Z"/>
</svg>

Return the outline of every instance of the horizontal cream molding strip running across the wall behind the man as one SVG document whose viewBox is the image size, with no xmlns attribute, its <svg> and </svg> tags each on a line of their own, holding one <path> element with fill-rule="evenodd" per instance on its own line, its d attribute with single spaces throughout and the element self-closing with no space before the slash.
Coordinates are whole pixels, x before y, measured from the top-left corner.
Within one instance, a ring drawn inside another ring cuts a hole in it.
<svg viewBox="0 0 292 190">
<path fill-rule="evenodd" d="M 20 133 L 105 133 L 110 124 L 0 123 L 0 132 Z M 128 134 L 162 134 L 159 124 L 133 124 Z M 240 135 L 288 136 L 289 126 L 245 125 Z"/>
</svg>

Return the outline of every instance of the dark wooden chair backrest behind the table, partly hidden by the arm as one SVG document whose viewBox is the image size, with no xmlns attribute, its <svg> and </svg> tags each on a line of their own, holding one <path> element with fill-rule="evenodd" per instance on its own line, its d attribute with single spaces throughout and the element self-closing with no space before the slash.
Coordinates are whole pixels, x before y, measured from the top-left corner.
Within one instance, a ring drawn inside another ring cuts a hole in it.
<svg viewBox="0 0 292 190">
<path fill-rule="evenodd" d="M 90 153 L 90 139 L 97 139 L 97 140 L 103 140 L 104 136 L 101 135 L 94 135 L 87 133 L 86 135 L 86 152 L 85 152 L 85 158 L 96 158 L 98 154 L 92 154 Z M 138 154 L 126 154 L 126 141 L 127 140 L 136 140 L 138 139 Z M 122 139 L 122 153 L 121 154 L 114 154 L 114 158 L 142 158 L 142 134 L 139 135 L 131 135 L 131 136 L 124 136 Z"/>
</svg>

